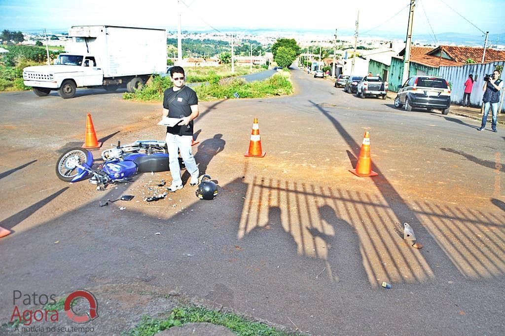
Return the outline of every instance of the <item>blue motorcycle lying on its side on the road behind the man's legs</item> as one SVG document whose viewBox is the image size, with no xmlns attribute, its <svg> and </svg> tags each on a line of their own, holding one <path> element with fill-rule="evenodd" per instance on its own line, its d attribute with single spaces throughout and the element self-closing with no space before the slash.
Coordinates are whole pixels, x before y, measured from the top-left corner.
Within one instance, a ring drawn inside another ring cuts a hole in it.
<svg viewBox="0 0 505 336">
<path fill-rule="evenodd" d="M 130 181 L 136 173 L 170 170 L 168 149 L 165 141 L 138 140 L 128 145 L 113 145 L 114 148 L 102 152 L 103 163 L 93 169 L 93 155 L 86 149 L 77 147 L 62 154 L 56 164 L 56 175 L 66 182 L 86 179 L 96 184 L 96 189 L 104 189 L 109 183 Z M 179 158 L 181 169 L 184 162 Z"/>
</svg>

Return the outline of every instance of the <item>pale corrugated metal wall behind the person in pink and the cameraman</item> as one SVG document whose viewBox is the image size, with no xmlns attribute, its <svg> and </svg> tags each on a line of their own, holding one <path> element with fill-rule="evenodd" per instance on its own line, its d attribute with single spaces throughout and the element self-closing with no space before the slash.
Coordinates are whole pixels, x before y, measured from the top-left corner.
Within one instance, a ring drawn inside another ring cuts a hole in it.
<svg viewBox="0 0 505 336">
<path fill-rule="evenodd" d="M 505 61 L 491 62 L 491 63 L 478 63 L 478 64 L 465 64 L 460 67 L 440 67 L 439 76 L 443 77 L 449 83 L 452 83 L 450 92 L 450 101 L 452 104 L 461 105 L 463 103 L 463 93 L 465 86 L 463 85 L 469 74 L 474 75 L 474 86 L 472 94 L 470 94 L 470 104 L 473 107 L 480 107 L 482 104 L 482 97 L 484 91 L 484 75 L 491 74 L 497 65 L 502 65 L 505 68 Z M 505 81 L 505 71 L 501 72 L 501 80 Z M 501 94 L 504 94 L 501 91 Z M 500 97 L 501 98 L 501 97 Z M 505 104 L 502 109 L 505 108 Z"/>
</svg>

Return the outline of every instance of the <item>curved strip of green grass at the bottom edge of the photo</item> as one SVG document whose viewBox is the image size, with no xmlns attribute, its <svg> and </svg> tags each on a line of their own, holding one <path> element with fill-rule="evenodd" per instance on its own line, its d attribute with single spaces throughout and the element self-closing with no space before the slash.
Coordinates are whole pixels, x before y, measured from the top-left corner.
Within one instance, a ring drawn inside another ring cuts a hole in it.
<svg viewBox="0 0 505 336">
<path fill-rule="evenodd" d="M 128 336 L 150 336 L 173 326 L 181 326 L 186 323 L 195 322 L 208 322 L 215 325 L 222 325 L 232 330 L 238 336 L 290 335 L 264 323 L 246 320 L 236 314 L 221 313 L 215 310 L 194 306 L 174 308 L 168 317 L 165 318 L 142 316 L 141 321 L 134 328 L 124 331 L 122 334 Z"/>
</svg>

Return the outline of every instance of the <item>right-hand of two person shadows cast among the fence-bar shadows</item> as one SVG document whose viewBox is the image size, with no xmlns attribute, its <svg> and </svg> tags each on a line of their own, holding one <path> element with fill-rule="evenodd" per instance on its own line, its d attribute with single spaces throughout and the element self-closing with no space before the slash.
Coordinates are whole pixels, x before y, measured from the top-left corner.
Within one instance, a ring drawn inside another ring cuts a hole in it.
<svg viewBox="0 0 505 336">
<path fill-rule="evenodd" d="M 315 228 L 309 231 L 313 237 L 323 239 L 327 246 L 327 267 L 329 274 L 338 281 L 360 282 L 367 281 L 367 274 L 363 267 L 361 244 L 353 225 L 337 217 L 335 210 L 329 205 L 318 208 L 319 216 L 333 227 L 333 235 L 325 234 Z M 326 225 L 326 224 L 325 224 Z"/>
</svg>

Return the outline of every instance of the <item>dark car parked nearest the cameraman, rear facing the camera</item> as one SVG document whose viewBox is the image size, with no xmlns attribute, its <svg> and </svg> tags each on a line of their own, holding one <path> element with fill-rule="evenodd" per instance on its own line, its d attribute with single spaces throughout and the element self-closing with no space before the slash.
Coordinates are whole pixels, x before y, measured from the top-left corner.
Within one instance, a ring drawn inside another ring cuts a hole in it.
<svg viewBox="0 0 505 336">
<path fill-rule="evenodd" d="M 399 89 L 394 106 L 405 106 L 406 111 L 413 108 L 440 110 L 448 114 L 450 108 L 450 88 L 440 77 L 412 76 Z"/>
</svg>

